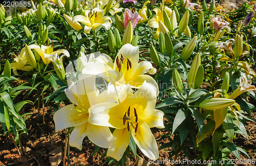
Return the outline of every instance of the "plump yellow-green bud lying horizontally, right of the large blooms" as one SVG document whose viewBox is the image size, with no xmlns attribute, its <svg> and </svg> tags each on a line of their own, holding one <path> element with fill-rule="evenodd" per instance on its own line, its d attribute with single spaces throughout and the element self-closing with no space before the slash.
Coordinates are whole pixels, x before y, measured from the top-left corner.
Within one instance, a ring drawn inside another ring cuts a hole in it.
<svg viewBox="0 0 256 166">
<path fill-rule="evenodd" d="M 201 102 L 199 104 L 199 107 L 208 110 L 217 110 L 227 108 L 233 105 L 234 103 L 236 103 L 236 101 L 232 99 L 211 98 Z"/>
</svg>

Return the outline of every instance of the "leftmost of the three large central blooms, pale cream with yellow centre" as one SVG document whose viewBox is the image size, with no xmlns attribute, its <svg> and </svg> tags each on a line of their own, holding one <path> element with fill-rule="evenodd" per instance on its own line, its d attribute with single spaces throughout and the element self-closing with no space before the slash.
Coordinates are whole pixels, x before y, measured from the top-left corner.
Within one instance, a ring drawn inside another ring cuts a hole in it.
<svg viewBox="0 0 256 166">
<path fill-rule="evenodd" d="M 73 104 L 60 108 L 53 116 L 56 131 L 75 127 L 70 135 L 70 145 L 79 150 L 82 149 L 82 140 L 86 136 L 103 148 L 109 148 L 113 140 L 109 127 L 88 122 L 88 109 L 95 104 L 108 101 L 104 92 L 99 94 L 95 86 L 95 77 L 82 75 L 76 84 L 71 84 L 65 93 Z"/>
</svg>

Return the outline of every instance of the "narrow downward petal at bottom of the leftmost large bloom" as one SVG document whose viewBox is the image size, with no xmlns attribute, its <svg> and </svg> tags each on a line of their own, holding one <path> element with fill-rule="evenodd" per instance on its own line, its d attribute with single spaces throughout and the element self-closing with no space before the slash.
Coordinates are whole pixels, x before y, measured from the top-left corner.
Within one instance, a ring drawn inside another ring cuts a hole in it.
<svg viewBox="0 0 256 166">
<path fill-rule="evenodd" d="M 87 135 L 88 122 L 82 125 L 76 126 L 70 134 L 69 144 L 72 147 L 76 147 L 82 150 L 82 140 Z"/>
</svg>

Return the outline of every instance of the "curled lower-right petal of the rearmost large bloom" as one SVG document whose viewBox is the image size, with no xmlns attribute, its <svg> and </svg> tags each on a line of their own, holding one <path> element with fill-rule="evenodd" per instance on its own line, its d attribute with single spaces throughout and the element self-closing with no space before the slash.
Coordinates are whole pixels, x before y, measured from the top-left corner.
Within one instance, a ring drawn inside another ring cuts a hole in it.
<svg viewBox="0 0 256 166">
<path fill-rule="evenodd" d="M 151 84 L 153 86 L 153 88 L 155 89 L 155 92 L 156 92 L 156 96 L 158 96 L 159 88 L 158 88 L 157 82 L 153 77 L 151 77 L 149 75 L 139 75 L 139 76 L 133 78 L 128 83 L 133 88 L 139 88 L 142 86 L 144 81 L 146 81 L 148 84 Z"/>
</svg>

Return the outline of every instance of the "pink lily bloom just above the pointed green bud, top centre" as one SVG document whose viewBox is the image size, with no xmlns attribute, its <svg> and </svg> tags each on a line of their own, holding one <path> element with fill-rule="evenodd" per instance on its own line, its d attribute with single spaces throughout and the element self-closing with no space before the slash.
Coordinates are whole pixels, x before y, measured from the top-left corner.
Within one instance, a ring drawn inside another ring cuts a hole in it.
<svg viewBox="0 0 256 166">
<path fill-rule="evenodd" d="M 123 27 L 126 29 L 128 23 L 131 21 L 133 24 L 133 29 L 136 27 L 139 20 L 142 20 L 143 18 L 139 15 L 139 13 L 136 11 L 135 13 L 132 13 L 130 9 L 125 9 L 124 11 L 124 17 L 123 17 Z"/>
</svg>

